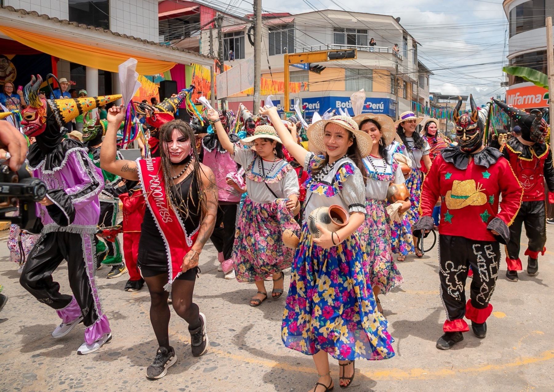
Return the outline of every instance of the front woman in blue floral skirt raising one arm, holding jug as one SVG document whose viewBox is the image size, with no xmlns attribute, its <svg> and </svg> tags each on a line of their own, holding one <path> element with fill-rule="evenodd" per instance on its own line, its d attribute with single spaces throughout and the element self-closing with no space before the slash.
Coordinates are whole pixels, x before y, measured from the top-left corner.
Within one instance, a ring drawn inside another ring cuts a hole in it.
<svg viewBox="0 0 554 392">
<path fill-rule="evenodd" d="M 394 355 L 387 321 L 376 310 L 363 265 L 367 255 L 356 230 L 365 219 L 365 169 L 362 157 L 371 151 L 369 135 L 350 117 L 334 116 L 308 128 L 308 152 L 290 136 L 275 107 L 260 110 L 275 125 L 283 144 L 304 162 L 306 182 L 304 217 L 317 207 L 338 204 L 348 212 L 348 223 L 337 231 L 318 225 L 314 238 L 302 227 L 296 250 L 281 336 L 286 347 L 312 355 L 319 379 L 312 391 L 334 388 L 329 355 L 338 359 L 340 386 L 354 378 L 355 359 L 383 359 Z"/>
</svg>

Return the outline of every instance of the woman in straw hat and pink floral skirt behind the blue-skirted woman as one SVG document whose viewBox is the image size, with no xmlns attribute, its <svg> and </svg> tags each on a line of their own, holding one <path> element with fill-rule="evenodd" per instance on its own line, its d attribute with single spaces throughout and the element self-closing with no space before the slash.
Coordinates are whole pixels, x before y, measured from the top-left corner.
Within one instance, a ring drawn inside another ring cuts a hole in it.
<svg viewBox="0 0 554 392">
<path fill-rule="evenodd" d="M 404 176 L 398 162 L 387 153 L 387 146 L 394 140 L 394 123 L 386 115 L 362 114 L 353 118 L 360 130 L 373 140 L 371 154 L 363 158 L 367 171 L 366 219 L 358 228 L 362 244 L 366 246 L 367 265 L 365 273 L 370 278 L 377 309 L 383 312 L 379 293 L 386 294 L 400 285 L 404 279 L 392 258 L 391 220 L 388 216 L 387 190 L 393 184 L 403 184 Z M 410 202 L 402 202 L 399 213 L 410 208 Z"/>
</svg>

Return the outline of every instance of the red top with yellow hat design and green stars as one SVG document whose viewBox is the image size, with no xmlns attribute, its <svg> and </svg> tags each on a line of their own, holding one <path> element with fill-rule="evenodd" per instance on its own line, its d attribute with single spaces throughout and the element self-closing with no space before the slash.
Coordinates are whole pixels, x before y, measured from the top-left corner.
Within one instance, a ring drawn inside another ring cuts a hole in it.
<svg viewBox="0 0 554 392">
<path fill-rule="evenodd" d="M 497 217 L 509 226 L 520 208 L 522 194 L 510 164 L 503 157 L 488 168 L 470 159 L 468 167 L 460 170 L 439 154 L 423 182 L 420 215 L 432 216 L 440 197 L 440 234 L 496 241 L 487 225 Z"/>
</svg>

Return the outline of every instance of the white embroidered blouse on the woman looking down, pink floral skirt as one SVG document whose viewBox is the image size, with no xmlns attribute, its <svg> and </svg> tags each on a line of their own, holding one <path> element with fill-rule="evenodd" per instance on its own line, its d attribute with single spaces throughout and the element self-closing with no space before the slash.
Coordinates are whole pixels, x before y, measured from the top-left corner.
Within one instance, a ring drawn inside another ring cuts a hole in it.
<svg viewBox="0 0 554 392">
<path fill-rule="evenodd" d="M 275 200 L 275 195 L 286 199 L 291 194 L 299 194 L 296 172 L 284 159 L 275 162 L 264 161 L 252 148 L 240 143 L 235 144 L 233 159 L 244 168 L 248 197 L 254 202 L 271 203 Z M 264 173 L 260 171 L 260 163 L 263 165 Z"/>
</svg>

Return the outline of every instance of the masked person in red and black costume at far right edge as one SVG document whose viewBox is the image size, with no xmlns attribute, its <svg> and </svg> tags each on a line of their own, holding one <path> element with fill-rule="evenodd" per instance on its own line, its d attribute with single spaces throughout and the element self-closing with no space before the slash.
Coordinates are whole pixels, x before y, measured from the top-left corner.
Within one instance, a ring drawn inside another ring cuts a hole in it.
<svg viewBox="0 0 554 392">
<path fill-rule="evenodd" d="M 521 226 L 525 226 L 527 242 L 527 274 L 535 275 L 538 271 L 538 254 L 546 251 L 546 208 L 545 182 L 550 192 L 554 191 L 554 167 L 552 151 L 544 142 L 547 125 L 542 112 L 535 110 L 531 114 L 510 107 L 504 102 L 494 100 L 520 127 L 521 138 L 532 145 L 522 143 L 519 138 L 512 138 L 501 151 L 510 162 L 514 173 L 524 190 L 521 208 L 514 223 L 510 226 L 510 241 L 506 245 L 506 277 L 517 281 L 517 271 L 522 271 L 520 254 Z"/>
</svg>

